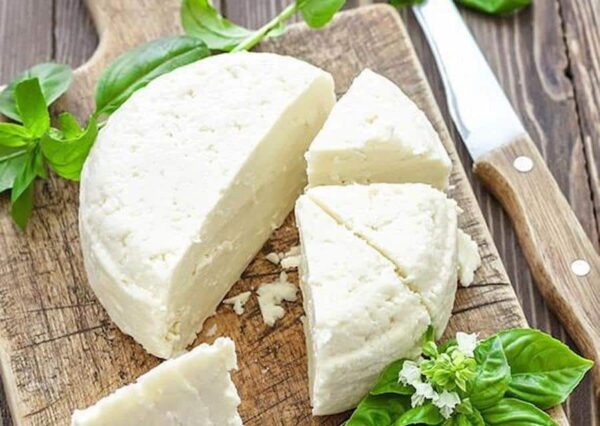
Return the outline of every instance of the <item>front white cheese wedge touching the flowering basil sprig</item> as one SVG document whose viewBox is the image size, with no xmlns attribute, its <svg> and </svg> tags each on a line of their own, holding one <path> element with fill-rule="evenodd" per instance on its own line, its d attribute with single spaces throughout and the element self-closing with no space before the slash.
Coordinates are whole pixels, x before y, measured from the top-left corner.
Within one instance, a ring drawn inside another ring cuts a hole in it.
<svg viewBox="0 0 600 426">
<path fill-rule="evenodd" d="M 419 354 L 430 318 L 377 250 L 306 195 L 295 212 L 313 414 L 338 413 L 355 407 L 387 364 Z"/>
</svg>

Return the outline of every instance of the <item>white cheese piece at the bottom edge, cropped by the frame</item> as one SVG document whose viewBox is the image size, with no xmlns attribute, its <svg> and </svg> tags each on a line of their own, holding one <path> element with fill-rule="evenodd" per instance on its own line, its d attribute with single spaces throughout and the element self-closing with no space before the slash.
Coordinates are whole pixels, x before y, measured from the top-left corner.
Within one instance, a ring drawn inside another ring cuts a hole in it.
<svg viewBox="0 0 600 426">
<path fill-rule="evenodd" d="M 85 410 L 72 426 L 241 426 L 230 371 L 237 368 L 229 338 L 202 344 L 163 362 Z"/>
</svg>

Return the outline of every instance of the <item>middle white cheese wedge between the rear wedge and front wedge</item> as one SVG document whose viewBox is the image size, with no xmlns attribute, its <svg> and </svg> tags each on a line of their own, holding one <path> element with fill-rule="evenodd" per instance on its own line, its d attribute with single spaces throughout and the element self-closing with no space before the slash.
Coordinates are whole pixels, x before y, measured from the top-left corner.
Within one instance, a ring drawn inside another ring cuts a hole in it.
<svg viewBox="0 0 600 426">
<path fill-rule="evenodd" d="M 321 186 L 307 194 L 394 263 L 441 336 L 456 294 L 456 203 L 424 184 Z"/>
</svg>

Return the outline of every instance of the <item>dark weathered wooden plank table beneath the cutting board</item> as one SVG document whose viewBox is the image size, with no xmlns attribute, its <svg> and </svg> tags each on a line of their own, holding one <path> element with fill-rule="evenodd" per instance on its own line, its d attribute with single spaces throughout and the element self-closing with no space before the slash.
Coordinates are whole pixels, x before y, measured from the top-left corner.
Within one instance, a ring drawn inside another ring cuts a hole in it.
<svg viewBox="0 0 600 426">
<path fill-rule="evenodd" d="M 234 21 L 257 26 L 289 0 L 221 0 Z M 371 3 L 350 0 L 347 7 Z M 534 0 L 507 18 L 464 16 L 579 220 L 600 246 L 600 1 Z M 410 12 L 401 12 L 446 118 L 441 81 Z M 143 25 L 143 23 L 140 23 Z M 0 0 L 0 84 L 38 62 L 80 65 L 98 36 L 81 0 Z M 452 128 L 448 120 L 449 127 Z M 453 134 L 456 140 L 458 136 Z M 469 168 L 464 148 L 459 152 Z M 474 180 L 475 192 L 530 323 L 571 343 L 537 291 L 510 221 Z M 0 296 L 1 297 L 1 296 Z M 586 380 L 565 405 L 573 425 L 598 425 Z M 10 425 L 0 389 L 0 419 Z"/>
</svg>

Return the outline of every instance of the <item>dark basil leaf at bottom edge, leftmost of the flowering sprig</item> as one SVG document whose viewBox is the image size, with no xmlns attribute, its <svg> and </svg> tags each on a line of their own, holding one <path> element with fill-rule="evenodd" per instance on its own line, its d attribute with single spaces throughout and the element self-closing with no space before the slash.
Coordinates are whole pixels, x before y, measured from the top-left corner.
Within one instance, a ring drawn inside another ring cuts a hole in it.
<svg viewBox="0 0 600 426">
<path fill-rule="evenodd" d="M 367 395 L 356 407 L 345 426 L 388 426 L 410 409 L 410 397 Z"/>
</svg>

